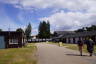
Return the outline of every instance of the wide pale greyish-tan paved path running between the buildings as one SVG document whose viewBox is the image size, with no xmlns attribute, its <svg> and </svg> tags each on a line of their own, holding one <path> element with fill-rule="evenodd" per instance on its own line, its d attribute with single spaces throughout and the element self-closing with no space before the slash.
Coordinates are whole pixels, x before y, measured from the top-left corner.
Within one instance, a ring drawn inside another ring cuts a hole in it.
<svg viewBox="0 0 96 64">
<path fill-rule="evenodd" d="M 96 56 L 79 56 L 79 52 L 52 44 L 38 43 L 38 64 L 96 64 Z"/>
</svg>

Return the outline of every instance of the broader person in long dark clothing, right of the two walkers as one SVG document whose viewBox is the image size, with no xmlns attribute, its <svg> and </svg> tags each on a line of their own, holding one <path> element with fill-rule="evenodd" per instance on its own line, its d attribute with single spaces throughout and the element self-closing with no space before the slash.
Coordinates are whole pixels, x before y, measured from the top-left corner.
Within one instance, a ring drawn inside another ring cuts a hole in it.
<svg viewBox="0 0 96 64">
<path fill-rule="evenodd" d="M 94 51 L 94 44 L 95 44 L 94 41 L 90 38 L 87 38 L 85 40 L 85 43 L 87 45 L 87 51 L 89 52 L 89 55 L 92 56 L 93 51 Z"/>
</svg>

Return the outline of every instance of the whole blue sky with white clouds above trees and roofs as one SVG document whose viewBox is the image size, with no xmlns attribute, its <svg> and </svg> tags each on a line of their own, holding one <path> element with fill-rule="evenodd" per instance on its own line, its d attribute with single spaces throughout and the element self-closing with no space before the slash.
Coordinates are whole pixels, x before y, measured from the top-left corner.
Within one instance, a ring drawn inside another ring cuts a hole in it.
<svg viewBox="0 0 96 64">
<path fill-rule="evenodd" d="M 49 20 L 51 32 L 96 25 L 96 0 L 0 0 L 0 29 L 4 31 L 25 30 L 30 22 L 36 35 L 43 20 Z"/>
</svg>

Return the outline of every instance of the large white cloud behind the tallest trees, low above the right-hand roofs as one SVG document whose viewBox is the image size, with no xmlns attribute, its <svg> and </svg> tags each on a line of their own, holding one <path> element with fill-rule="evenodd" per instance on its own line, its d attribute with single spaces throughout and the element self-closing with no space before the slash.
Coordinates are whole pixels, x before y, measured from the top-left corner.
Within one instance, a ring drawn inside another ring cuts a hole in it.
<svg viewBox="0 0 96 64">
<path fill-rule="evenodd" d="M 60 11 L 39 20 L 49 20 L 56 30 L 75 30 L 80 27 L 96 24 L 96 14 Z"/>
</svg>

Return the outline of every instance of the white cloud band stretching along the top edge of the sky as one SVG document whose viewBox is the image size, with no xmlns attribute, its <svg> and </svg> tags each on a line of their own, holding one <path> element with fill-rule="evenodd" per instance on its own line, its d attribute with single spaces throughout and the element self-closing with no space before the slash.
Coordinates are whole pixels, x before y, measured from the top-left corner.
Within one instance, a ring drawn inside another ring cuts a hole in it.
<svg viewBox="0 0 96 64">
<path fill-rule="evenodd" d="M 1 2 L 14 4 L 18 8 L 31 9 L 35 8 L 58 8 L 69 10 L 87 10 L 88 12 L 96 12 L 95 0 L 0 0 Z M 17 6 L 18 5 L 18 6 Z"/>
</svg>

